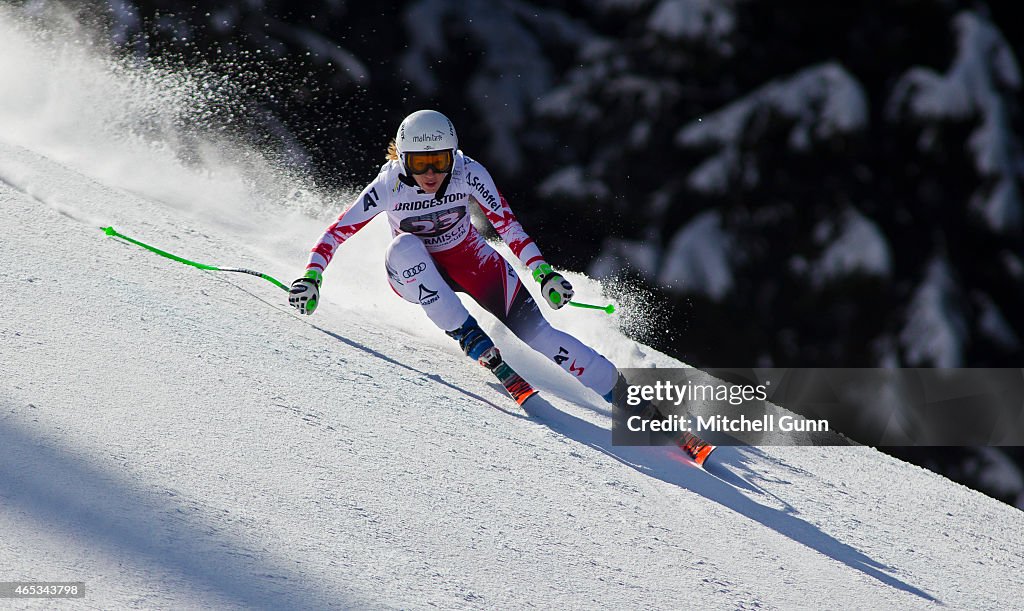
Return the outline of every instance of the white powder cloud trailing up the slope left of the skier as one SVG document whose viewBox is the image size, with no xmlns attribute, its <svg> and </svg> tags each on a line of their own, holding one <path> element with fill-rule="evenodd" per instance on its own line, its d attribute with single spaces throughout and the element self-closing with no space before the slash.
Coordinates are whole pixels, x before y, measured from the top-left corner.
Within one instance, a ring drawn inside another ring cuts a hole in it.
<svg viewBox="0 0 1024 611">
<path fill-rule="evenodd" d="M 186 213 L 191 221 L 176 218 L 174 232 L 201 226 L 229 230 L 257 256 L 288 261 L 276 268 L 270 264 L 267 273 L 297 275 L 317 231 L 349 194 L 325 192 L 287 165 L 280 151 L 253 143 L 248 124 L 236 127 L 252 118 L 246 105 L 251 88 L 200 70 L 118 57 L 91 42 L 91 32 L 59 5 L 30 8 L 0 5 L 0 144 L 29 149 L 97 184 Z M 0 182 L 86 225 L 114 225 L 144 242 L 157 241 L 171 222 L 164 217 L 131 222 L 126 214 L 97 217 L 24 164 L 6 159 L 0 159 Z M 174 233 L 156 244 L 174 252 L 178 237 Z M 229 266 L 248 266 L 251 255 L 212 246 L 180 254 Z M 368 255 L 356 264 L 371 263 Z"/>
</svg>

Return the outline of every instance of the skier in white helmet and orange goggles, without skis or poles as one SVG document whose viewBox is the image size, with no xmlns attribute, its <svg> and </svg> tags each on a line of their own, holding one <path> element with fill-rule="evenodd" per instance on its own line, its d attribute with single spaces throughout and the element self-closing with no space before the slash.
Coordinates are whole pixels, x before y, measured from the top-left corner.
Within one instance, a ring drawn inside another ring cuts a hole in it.
<svg viewBox="0 0 1024 611">
<path fill-rule="evenodd" d="M 292 282 L 289 303 L 312 314 L 336 249 L 384 212 L 394 236 L 384 254 L 391 287 L 422 306 L 470 358 L 496 373 L 502 363 L 498 348 L 456 292 L 468 294 L 516 337 L 610 402 L 618 380 L 615 366 L 548 323 L 512 265 L 470 222 L 471 205 L 483 211 L 532 272 L 544 301 L 554 309 L 569 303 L 572 286 L 545 262 L 490 174 L 459 149 L 455 127 L 436 111 L 417 111 L 401 122 L 388 162 L 313 247 L 305 274 Z"/>
</svg>

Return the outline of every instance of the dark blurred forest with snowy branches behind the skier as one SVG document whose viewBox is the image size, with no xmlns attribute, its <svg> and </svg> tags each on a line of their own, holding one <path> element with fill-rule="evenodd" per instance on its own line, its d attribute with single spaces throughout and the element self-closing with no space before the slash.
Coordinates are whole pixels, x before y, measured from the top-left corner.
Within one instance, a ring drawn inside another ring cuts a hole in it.
<svg viewBox="0 0 1024 611">
<path fill-rule="evenodd" d="M 652 294 L 637 339 L 697 367 L 1024 365 L 1016 4 L 66 3 L 229 78 L 329 188 L 442 111 L 549 262 Z M 1021 448 L 887 451 L 1024 508 Z"/>
</svg>

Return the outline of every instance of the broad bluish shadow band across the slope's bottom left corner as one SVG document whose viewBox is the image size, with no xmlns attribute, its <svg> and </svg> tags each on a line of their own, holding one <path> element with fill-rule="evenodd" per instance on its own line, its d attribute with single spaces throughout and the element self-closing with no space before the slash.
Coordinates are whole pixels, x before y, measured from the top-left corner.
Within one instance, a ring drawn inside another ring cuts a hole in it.
<svg viewBox="0 0 1024 611">
<path fill-rule="evenodd" d="M 265 550 L 223 532 L 199 504 L 90 465 L 11 420 L 0 420 L 0 507 L 9 519 L 31 521 L 27 529 L 66 537 L 76 549 L 110 558 L 112 566 L 144 567 L 171 580 L 166 585 L 172 588 L 180 580 L 183 591 L 211 593 L 245 608 L 346 605 Z M 85 581 L 88 598 L 99 596 L 90 575 L 63 578 Z M 161 584 L 152 586 L 155 596 L 165 595 Z M 137 593 L 139 600 L 146 596 Z"/>
</svg>

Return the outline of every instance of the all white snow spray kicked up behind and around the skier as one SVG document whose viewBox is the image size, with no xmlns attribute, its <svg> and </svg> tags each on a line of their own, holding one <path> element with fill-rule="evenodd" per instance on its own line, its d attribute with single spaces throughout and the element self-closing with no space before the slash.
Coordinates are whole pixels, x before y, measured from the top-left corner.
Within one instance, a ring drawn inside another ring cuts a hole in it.
<svg viewBox="0 0 1024 611">
<path fill-rule="evenodd" d="M 349 205 L 359 185 L 328 192 L 281 163 L 275 151 L 225 133 L 222 122 L 246 113 L 236 83 L 201 71 L 112 58 L 89 40 L 88 33 L 67 15 L 50 14 L 41 24 L 30 25 L 0 7 L 0 82 L 10 84 L 0 97 L 0 137 L 97 182 L 187 213 L 196 226 L 228 230 L 249 246 L 246 253 L 211 247 L 176 254 L 215 265 L 257 268 L 285 280 L 300 275 L 310 246 Z M 33 179 L 31 172 L 12 163 L 0 161 L 0 178 L 23 190 L 45 191 L 41 186 L 45 181 Z M 34 194 L 66 216 L 95 227 L 113 224 L 143 242 L 162 229 L 158 219 L 153 219 L 153 226 L 122 226 L 118 218 L 96 218 L 76 209 L 74 202 L 44 191 Z M 328 307 L 373 310 L 382 322 L 424 342 L 451 347 L 451 340 L 430 324 L 419 307 L 398 299 L 388 286 L 383 253 L 389 239 L 387 224 L 376 219 L 339 250 L 326 275 Z M 175 251 L 174 242 L 158 246 Z M 570 274 L 570 279 L 581 299 L 595 303 L 611 299 L 588 276 Z M 641 366 L 651 351 L 641 355 L 620 330 L 638 331 L 644 326 L 640 321 L 655 313 L 653 304 L 648 306 L 649 300 L 641 295 L 620 288 L 615 292 L 620 309 L 613 316 L 574 308 L 548 315 L 616 364 Z"/>
</svg>

